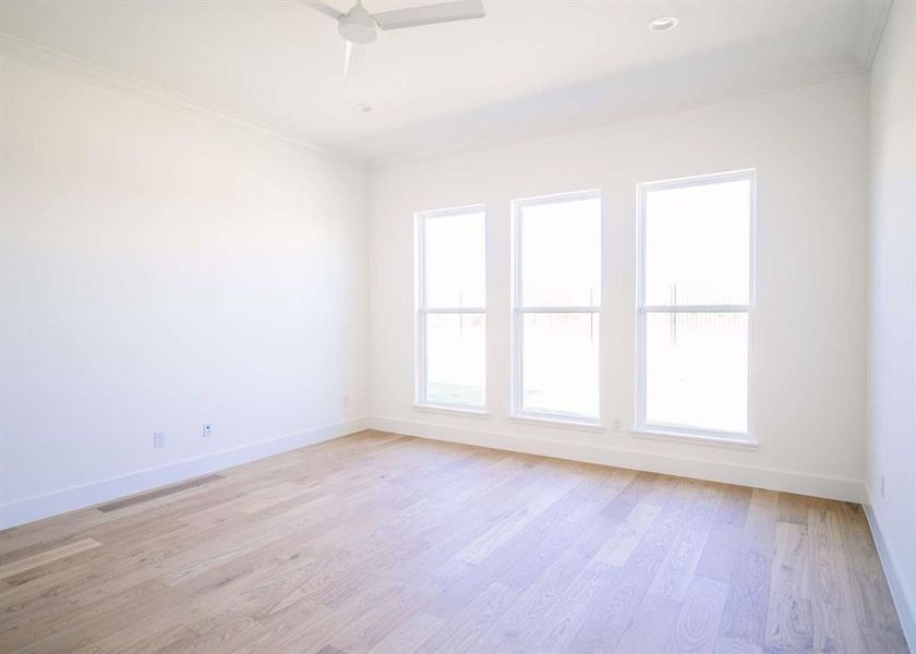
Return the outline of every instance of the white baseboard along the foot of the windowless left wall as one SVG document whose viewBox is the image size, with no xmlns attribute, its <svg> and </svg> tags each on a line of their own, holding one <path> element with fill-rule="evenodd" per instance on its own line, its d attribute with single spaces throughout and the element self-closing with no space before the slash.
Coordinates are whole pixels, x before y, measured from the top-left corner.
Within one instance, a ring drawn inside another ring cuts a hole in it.
<svg viewBox="0 0 916 654">
<path fill-rule="evenodd" d="M 209 474 L 365 428 L 359 417 L 0 505 L 0 530 Z"/>
</svg>

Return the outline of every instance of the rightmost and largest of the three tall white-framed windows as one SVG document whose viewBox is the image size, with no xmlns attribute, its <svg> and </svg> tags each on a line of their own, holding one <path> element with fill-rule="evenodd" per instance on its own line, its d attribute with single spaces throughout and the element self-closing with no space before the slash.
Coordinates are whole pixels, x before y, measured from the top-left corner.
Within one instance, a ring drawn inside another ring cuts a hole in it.
<svg viewBox="0 0 916 654">
<path fill-rule="evenodd" d="M 746 438 L 752 171 L 639 186 L 637 428 Z"/>
</svg>

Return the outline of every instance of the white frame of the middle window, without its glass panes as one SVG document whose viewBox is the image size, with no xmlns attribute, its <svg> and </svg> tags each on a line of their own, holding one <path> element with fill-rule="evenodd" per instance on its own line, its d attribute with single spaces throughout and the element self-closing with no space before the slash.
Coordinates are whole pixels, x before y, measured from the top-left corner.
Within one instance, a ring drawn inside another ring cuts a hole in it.
<svg viewBox="0 0 916 654">
<path fill-rule="evenodd" d="M 599 316 L 599 335 L 598 335 L 598 397 L 601 399 L 601 305 L 602 305 L 602 257 L 599 256 L 599 288 L 598 288 L 598 304 L 594 306 L 525 306 L 522 298 L 522 280 L 521 280 L 521 241 L 522 227 L 521 215 L 526 207 L 555 204 L 558 202 L 574 202 L 577 199 L 598 199 L 601 206 L 601 190 L 590 189 L 587 191 L 574 191 L 570 193 L 556 193 L 552 195 L 540 195 L 537 197 L 523 197 L 513 201 L 513 312 L 511 312 L 511 414 L 510 417 L 521 422 L 537 421 L 545 425 L 556 426 L 581 426 L 586 428 L 604 428 L 604 423 L 601 419 L 601 402 L 599 401 L 598 415 L 578 415 L 575 413 L 556 413 L 556 412 L 541 412 L 541 411 L 526 411 L 523 409 L 525 395 L 525 376 L 523 376 L 523 325 L 525 314 L 534 313 L 579 313 L 579 314 L 594 314 Z M 599 209 L 599 240 L 602 239 L 604 228 L 603 206 Z M 603 247 L 602 247 L 603 252 Z"/>
</svg>

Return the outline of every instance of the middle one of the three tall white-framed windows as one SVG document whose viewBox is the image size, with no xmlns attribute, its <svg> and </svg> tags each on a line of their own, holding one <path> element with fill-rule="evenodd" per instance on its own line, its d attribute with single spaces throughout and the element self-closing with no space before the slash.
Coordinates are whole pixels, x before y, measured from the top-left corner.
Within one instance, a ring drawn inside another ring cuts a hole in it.
<svg viewBox="0 0 916 654">
<path fill-rule="evenodd" d="M 596 422 L 601 198 L 588 191 L 513 209 L 514 413 Z"/>
</svg>

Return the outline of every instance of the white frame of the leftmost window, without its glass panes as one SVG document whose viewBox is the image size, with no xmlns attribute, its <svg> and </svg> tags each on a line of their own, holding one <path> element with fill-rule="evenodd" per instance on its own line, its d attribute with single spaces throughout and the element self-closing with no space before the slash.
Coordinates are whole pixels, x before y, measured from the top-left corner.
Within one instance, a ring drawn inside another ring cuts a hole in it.
<svg viewBox="0 0 916 654">
<path fill-rule="evenodd" d="M 425 271 L 426 271 L 426 220 L 430 218 L 445 218 L 448 216 L 462 216 L 468 214 L 483 214 L 484 221 L 484 305 L 483 307 L 427 307 L 426 306 L 426 287 L 425 287 Z M 445 402 L 431 402 L 426 400 L 426 378 L 427 378 L 427 358 L 426 358 L 426 316 L 432 314 L 482 314 L 486 316 L 486 206 L 483 204 L 466 205 L 460 207 L 451 207 L 447 209 L 434 209 L 430 211 L 418 211 L 413 218 L 413 246 L 414 246 L 414 361 L 415 361 L 415 390 L 414 390 L 414 408 L 420 410 L 433 410 L 444 412 L 470 413 L 475 415 L 486 415 L 487 405 L 487 384 L 486 384 L 486 329 L 484 328 L 484 401 L 482 405 L 478 404 L 450 404 Z"/>
</svg>

